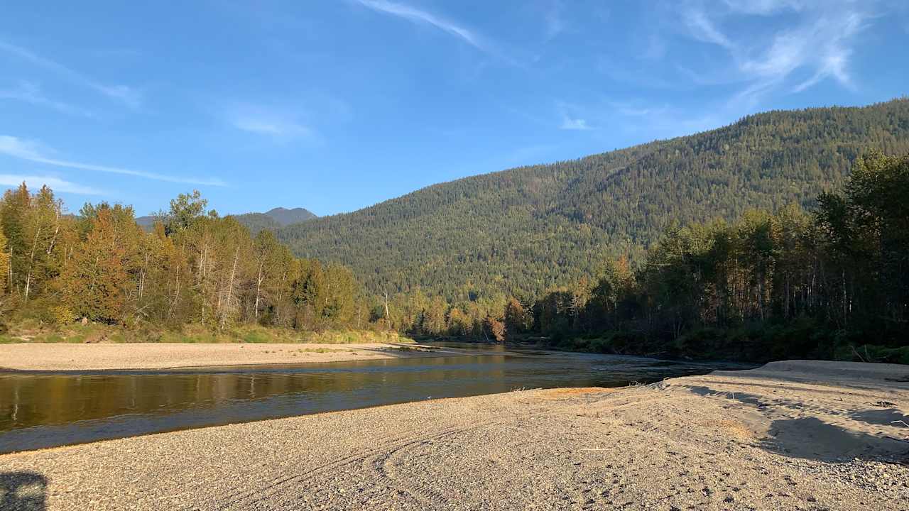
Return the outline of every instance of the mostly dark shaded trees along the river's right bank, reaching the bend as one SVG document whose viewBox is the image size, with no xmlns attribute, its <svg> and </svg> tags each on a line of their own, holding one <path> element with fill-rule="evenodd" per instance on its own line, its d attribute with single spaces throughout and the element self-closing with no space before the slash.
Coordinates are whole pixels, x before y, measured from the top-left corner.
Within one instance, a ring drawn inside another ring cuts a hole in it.
<svg viewBox="0 0 909 511">
<path fill-rule="evenodd" d="M 539 296 L 417 293 L 394 320 L 599 352 L 909 363 L 909 156 L 857 158 L 842 193 L 816 204 L 670 225 L 639 265 L 623 255 Z"/>
</svg>

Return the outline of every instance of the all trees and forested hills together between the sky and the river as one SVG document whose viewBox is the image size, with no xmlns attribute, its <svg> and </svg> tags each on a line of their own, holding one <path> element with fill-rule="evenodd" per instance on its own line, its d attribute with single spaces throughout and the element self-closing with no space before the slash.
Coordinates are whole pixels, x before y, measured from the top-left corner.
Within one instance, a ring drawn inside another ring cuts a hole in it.
<svg viewBox="0 0 909 511">
<path fill-rule="evenodd" d="M 129 206 L 70 214 L 23 184 L 0 201 L 0 326 L 909 363 L 905 99 L 752 115 L 311 215 L 221 216 L 193 192 L 144 228 Z"/>
</svg>

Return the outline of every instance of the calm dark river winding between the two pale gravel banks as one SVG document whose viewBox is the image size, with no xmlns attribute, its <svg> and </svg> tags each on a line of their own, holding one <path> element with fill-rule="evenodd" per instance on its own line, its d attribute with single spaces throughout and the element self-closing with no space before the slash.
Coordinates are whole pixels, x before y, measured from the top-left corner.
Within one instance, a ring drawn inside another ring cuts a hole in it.
<svg viewBox="0 0 909 511">
<path fill-rule="evenodd" d="M 446 345 L 454 346 L 454 345 Z M 261 419 L 704 374 L 687 364 L 459 344 L 467 356 L 167 371 L 0 373 L 0 454 Z M 511 350 L 515 351 L 515 350 Z"/>
</svg>

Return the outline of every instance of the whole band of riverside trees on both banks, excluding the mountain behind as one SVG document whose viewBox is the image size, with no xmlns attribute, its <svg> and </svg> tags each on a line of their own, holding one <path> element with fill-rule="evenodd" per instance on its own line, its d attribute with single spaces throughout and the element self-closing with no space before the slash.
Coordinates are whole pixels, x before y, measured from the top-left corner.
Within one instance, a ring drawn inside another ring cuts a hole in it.
<svg viewBox="0 0 909 511">
<path fill-rule="evenodd" d="M 859 156 L 841 190 L 811 209 L 668 225 L 643 255 L 603 256 L 597 272 L 541 293 L 452 299 L 366 293 L 347 267 L 295 257 L 268 229 L 250 235 L 198 192 L 145 230 L 131 207 L 67 215 L 48 187 L 24 184 L 0 200 L 0 326 L 369 327 L 620 354 L 909 363 L 909 156 Z"/>
</svg>

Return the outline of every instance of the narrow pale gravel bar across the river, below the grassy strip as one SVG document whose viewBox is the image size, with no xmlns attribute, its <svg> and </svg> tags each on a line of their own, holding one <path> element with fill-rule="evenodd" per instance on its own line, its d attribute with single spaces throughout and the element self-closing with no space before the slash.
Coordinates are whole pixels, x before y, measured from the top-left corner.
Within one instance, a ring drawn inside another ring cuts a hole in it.
<svg viewBox="0 0 909 511">
<path fill-rule="evenodd" d="M 5 344 L 0 368 L 20 371 L 169 369 L 445 356 L 458 350 L 383 343 L 326 344 Z"/>
</svg>

